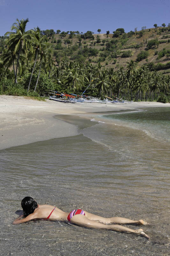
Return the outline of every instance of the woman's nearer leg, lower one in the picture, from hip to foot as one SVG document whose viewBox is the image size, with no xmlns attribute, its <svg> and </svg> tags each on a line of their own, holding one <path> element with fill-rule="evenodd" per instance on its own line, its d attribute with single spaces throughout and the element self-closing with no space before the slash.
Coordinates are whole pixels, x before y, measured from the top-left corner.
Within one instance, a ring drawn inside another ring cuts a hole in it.
<svg viewBox="0 0 170 256">
<path fill-rule="evenodd" d="M 70 222 L 74 223 L 78 226 L 81 226 L 81 227 L 108 229 L 108 230 L 119 231 L 119 232 L 128 232 L 128 233 L 134 233 L 134 234 L 138 234 L 138 235 L 145 236 L 145 237 L 149 238 L 149 236 L 147 236 L 144 233 L 142 228 L 131 229 L 131 228 L 126 228 L 121 225 L 105 225 L 105 224 L 99 223 L 95 220 L 89 220 L 89 219 L 87 219 L 87 217 L 85 215 L 82 215 L 82 214 L 74 215 L 71 218 Z"/>
</svg>

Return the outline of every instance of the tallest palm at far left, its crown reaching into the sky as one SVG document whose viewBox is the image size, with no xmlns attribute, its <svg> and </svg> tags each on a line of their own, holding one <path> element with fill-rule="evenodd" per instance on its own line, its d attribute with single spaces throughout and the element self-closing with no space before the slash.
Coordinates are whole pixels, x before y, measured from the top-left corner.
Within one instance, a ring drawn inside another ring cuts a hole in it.
<svg viewBox="0 0 170 256">
<path fill-rule="evenodd" d="M 29 39 L 31 39 L 30 34 L 28 31 L 26 32 L 26 24 L 29 20 L 22 19 L 18 20 L 17 22 L 13 23 L 11 30 L 14 30 L 13 32 L 6 32 L 6 35 L 10 35 L 9 39 L 7 39 L 6 44 L 8 45 L 8 50 L 13 52 L 13 54 L 18 54 L 17 57 L 17 66 L 16 66 L 16 72 L 15 72 L 15 84 L 17 84 L 17 72 L 18 72 L 18 63 L 19 63 L 19 57 L 21 54 L 21 50 L 23 47 L 26 48 L 27 52 L 27 42 Z"/>
</svg>

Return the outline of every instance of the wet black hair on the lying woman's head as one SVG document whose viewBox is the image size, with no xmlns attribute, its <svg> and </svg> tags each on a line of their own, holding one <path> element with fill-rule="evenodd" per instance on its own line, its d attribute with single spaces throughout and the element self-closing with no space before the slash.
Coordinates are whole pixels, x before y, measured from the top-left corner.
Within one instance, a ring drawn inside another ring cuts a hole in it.
<svg viewBox="0 0 170 256">
<path fill-rule="evenodd" d="M 34 210 L 38 207 L 38 204 L 31 196 L 26 196 L 24 199 L 22 199 L 21 206 L 24 216 L 26 217 L 34 212 Z"/>
</svg>

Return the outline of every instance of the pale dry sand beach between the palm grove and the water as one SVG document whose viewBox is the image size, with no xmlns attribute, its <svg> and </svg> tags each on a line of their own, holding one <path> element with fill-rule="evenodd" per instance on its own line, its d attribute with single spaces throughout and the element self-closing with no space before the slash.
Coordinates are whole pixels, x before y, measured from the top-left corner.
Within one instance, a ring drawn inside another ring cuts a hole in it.
<svg viewBox="0 0 170 256">
<path fill-rule="evenodd" d="M 54 138 L 79 135 L 78 117 L 89 120 L 99 113 L 135 110 L 147 107 L 170 107 L 170 103 L 133 102 L 106 103 L 96 102 L 71 104 L 52 100 L 30 100 L 21 96 L 0 95 L 0 150 Z M 58 115 L 72 115 L 71 121 Z M 97 122 L 97 119 L 96 119 Z M 94 125 L 94 122 L 92 122 Z"/>
</svg>

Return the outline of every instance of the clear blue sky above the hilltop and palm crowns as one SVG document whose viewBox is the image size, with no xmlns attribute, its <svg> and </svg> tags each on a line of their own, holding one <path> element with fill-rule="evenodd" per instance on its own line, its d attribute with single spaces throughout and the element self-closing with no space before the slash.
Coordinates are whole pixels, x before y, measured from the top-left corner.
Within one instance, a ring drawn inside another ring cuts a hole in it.
<svg viewBox="0 0 170 256">
<path fill-rule="evenodd" d="M 29 19 L 26 30 L 39 26 L 41 30 L 86 32 L 95 34 L 116 28 L 141 30 L 157 23 L 170 23 L 170 0 L 0 0 L 0 36 L 11 31 L 18 20 Z"/>
</svg>

